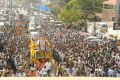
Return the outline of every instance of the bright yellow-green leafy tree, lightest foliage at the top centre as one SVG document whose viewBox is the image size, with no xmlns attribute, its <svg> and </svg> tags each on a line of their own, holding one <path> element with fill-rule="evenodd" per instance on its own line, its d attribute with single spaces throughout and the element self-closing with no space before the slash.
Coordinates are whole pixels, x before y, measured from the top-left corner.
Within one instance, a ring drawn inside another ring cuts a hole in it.
<svg viewBox="0 0 120 80">
<path fill-rule="evenodd" d="M 76 23 L 82 15 L 81 10 L 77 9 L 78 7 L 77 0 L 69 1 L 61 11 L 59 19 L 67 24 Z"/>
</svg>

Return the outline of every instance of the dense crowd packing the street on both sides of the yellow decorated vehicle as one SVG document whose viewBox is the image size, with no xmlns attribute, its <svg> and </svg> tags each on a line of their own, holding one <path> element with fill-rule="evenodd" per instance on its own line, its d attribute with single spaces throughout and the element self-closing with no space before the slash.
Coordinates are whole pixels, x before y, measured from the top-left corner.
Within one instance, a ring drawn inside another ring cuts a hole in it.
<svg viewBox="0 0 120 80">
<path fill-rule="evenodd" d="M 6 36 L 0 52 L 1 77 L 90 76 L 120 77 L 120 50 L 111 39 L 89 42 L 77 30 L 52 28 L 46 32 L 60 61 L 33 64 L 29 40 L 15 33 Z"/>
</svg>

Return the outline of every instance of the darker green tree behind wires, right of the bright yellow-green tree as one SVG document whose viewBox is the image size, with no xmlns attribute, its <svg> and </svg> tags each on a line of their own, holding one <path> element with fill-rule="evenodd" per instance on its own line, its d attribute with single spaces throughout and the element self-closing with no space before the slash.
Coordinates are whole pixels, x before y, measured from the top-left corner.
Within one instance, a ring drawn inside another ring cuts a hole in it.
<svg viewBox="0 0 120 80">
<path fill-rule="evenodd" d="M 87 31 L 87 19 L 91 14 L 94 16 L 93 20 L 95 22 L 95 13 L 102 12 L 102 4 L 104 0 L 77 0 L 80 9 L 84 13 L 84 23 L 85 31 Z M 95 31 L 95 26 L 94 26 Z"/>
</svg>

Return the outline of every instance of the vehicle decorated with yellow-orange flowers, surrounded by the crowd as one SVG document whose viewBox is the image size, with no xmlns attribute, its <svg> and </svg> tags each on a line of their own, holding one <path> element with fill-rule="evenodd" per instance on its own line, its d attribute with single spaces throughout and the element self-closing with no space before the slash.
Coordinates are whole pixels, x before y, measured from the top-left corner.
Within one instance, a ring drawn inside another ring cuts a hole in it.
<svg viewBox="0 0 120 80">
<path fill-rule="evenodd" d="M 52 45 L 47 37 L 39 37 L 35 32 L 31 34 L 30 56 L 34 64 L 52 60 Z"/>
</svg>

